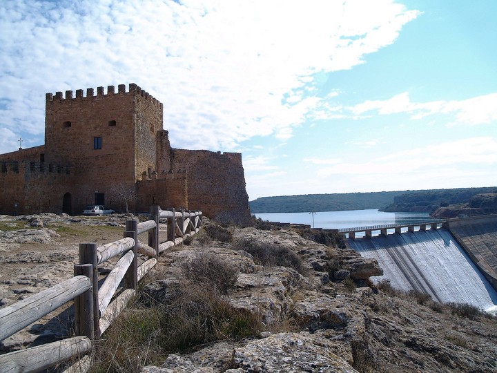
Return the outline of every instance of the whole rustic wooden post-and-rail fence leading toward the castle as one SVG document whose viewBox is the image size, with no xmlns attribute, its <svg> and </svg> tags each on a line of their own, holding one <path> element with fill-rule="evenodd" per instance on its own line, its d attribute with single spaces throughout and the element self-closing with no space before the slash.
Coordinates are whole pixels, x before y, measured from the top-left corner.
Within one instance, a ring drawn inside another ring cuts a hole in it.
<svg viewBox="0 0 497 373">
<path fill-rule="evenodd" d="M 121 240 L 101 247 L 95 243 L 79 244 L 79 264 L 74 266 L 74 277 L 0 309 L 0 341 L 3 341 L 73 300 L 76 334 L 62 341 L 0 355 L 0 372 L 39 372 L 90 353 L 93 341 L 119 316 L 135 295 L 139 280 L 157 264 L 157 255 L 202 227 L 201 211 L 161 210 L 153 206 L 150 215 L 146 222 L 126 221 Z M 164 242 L 159 242 L 159 221 L 167 224 Z M 142 233 L 147 233 L 147 243 L 139 240 Z M 138 265 L 138 253 L 149 259 Z M 119 260 L 99 287 L 98 266 L 116 256 L 120 256 Z M 116 296 L 123 280 L 124 289 Z M 66 372 L 86 372 L 90 365 L 90 356 L 86 355 Z"/>
</svg>

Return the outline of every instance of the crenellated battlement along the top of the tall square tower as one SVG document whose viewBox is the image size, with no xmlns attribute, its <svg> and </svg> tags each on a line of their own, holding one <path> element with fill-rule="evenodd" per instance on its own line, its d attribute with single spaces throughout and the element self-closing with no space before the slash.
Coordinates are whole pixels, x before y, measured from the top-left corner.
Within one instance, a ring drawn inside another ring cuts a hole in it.
<svg viewBox="0 0 497 373">
<path fill-rule="evenodd" d="M 73 95 L 72 90 L 66 90 L 63 92 L 56 92 L 55 95 L 52 93 L 46 93 L 45 98 L 47 104 L 53 102 L 64 102 L 68 100 L 92 100 L 96 98 L 106 98 L 115 97 L 117 95 L 139 95 L 144 97 L 144 99 L 150 101 L 153 105 L 162 108 L 162 103 L 158 99 L 147 93 L 141 87 L 137 86 L 135 83 L 130 83 L 128 91 L 126 92 L 126 84 L 119 84 L 117 86 L 117 92 L 115 91 L 115 86 L 107 86 L 107 93 L 105 93 L 104 87 L 97 87 L 97 94 L 95 95 L 95 90 L 93 88 L 86 88 L 86 95 L 84 95 L 83 89 L 75 90 L 75 95 Z"/>
</svg>

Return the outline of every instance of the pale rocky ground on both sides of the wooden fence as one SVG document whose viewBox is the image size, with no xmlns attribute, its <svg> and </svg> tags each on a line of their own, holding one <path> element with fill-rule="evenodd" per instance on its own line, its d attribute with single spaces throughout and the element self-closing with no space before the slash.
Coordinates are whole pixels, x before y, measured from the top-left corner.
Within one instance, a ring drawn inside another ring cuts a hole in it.
<svg viewBox="0 0 497 373">
<path fill-rule="evenodd" d="M 72 276 L 77 243 L 121 238 L 125 217 L 23 219 L 0 217 L 0 307 Z M 41 227 L 27 228 L 36 219 Z M 81 233 L 83 226 L 89 229 Z M 257 338 L 170 354 L 144 372 L 497 372 L 495 319 L 467 318 L 447 305 L 367 287 L 367 278 L 381 271 L 375 262 L 350 249 L 306 240 L 296 231 L 231 228 L 231 233 L 232 242 L 197 239 L 166 252 L 154 269 L 160 278 L 144 291 L 167 303 L 181 268 L 200 254 L 213 254 L 239 271 L 224 297 L 234 307 L 261 315 L 264 330 Z M 246 239 L 291 249 L 304 271 L 257 265 L 236 245 Z M 28 332 L 57 334 L 41 325 Z M 23 334 L 3 341 L 3 349 L 28 345 L 28 339 Z"/>
</svg>

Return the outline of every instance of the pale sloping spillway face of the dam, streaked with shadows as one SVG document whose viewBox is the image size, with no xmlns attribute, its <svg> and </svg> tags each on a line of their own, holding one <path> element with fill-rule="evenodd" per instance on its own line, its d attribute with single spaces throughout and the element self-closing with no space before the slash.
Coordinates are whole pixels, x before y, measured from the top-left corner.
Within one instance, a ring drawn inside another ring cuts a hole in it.
<svg viewBox="0 0 497 373">
<path fill-rule="evenodd" d="M 348 242 L 362 256 L 378 260 L 384 275 L 373 281 L 387 279 L 396 289 L 422 291 L 440 303 L 497 309 L 497 291 L 446 229 L 349 238 Z"/>
</svg>

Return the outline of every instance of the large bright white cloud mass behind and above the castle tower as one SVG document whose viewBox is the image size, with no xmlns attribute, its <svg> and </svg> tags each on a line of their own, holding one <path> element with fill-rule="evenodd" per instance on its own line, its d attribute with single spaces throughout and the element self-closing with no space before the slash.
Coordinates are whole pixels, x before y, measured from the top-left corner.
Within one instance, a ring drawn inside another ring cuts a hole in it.
<svg viewBox="0 0 497 373">
<path fill-rule="evenodd" d="M 174 146 L 285 140 L 320 104 L 315 73 L 361 64 L 418 15 L 393 0 L 3 1 L 0 126 L 41 143 L 46 92 L 135 82 Z"/>
</svg>

